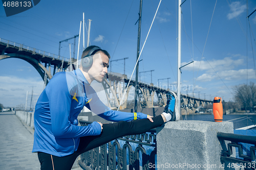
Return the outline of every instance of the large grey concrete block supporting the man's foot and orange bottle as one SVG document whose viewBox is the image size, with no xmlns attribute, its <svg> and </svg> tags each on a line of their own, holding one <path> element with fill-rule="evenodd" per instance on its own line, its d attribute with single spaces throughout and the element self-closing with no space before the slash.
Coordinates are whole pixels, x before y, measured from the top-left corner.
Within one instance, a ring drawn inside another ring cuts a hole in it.
<svg viewBox="0 0 256 170">
<path fill-rule="evenodd" d="M 180 120 L 158 127 L 158 169 L 223 169 L 217 132 L 233 133 L 232 122 Z"/>
</svg>

